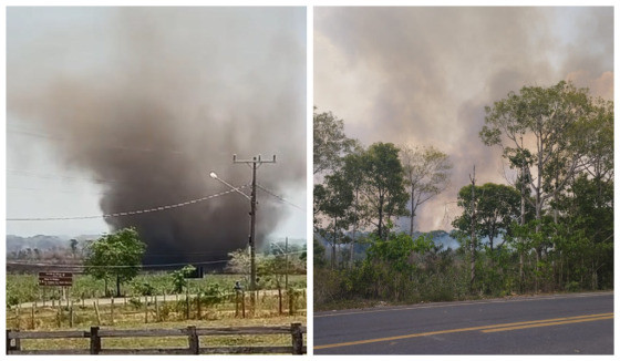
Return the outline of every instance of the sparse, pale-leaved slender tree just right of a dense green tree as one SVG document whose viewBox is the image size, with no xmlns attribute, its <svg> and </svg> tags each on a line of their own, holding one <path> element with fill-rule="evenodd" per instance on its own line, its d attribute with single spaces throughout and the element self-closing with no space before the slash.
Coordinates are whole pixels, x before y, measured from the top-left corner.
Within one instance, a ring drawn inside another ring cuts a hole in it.
<svg viewBox="0 0 620 361">
<path fill-rule="evenodd" d="M 411 225 L 409 235 L 413 237 L 414 218 L 417 207 L 438 195 L 450 183 L 452 163 L 447 154 L 433 146 L 401 147 L 401 162 L 410 193 Z"/>
</svg>

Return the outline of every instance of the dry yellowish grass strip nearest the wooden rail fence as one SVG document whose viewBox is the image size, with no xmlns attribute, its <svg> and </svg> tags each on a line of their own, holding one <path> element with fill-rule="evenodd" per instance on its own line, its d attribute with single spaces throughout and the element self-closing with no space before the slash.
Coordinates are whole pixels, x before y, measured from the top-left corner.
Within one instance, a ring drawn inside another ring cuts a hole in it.
<svg viewBox="0 0 620 361">
<path fill-rule="evenodd" d="M 303 299 L 303 302 L 306 300 Z M 148 306 L 148 323 L 145 323 L 144 308 L 136 309 L 132 305 L 114 306 L 114 323 L 111 319 L 110 305 L 99 307 L 101 329 L 179 329 L 195 326 L 197 328 L 210 327 L 248 327 L 248 326 L 289 326 L 291 323 L 306 324 L 306 310 L 297 310 L 296 314 L 278 314 L 277 299 L 269 297 L 259 298 L 258 309 L 250 316 L 246 310 L 246 318 L 235 316 L 235 303 L 224 303 L 217 307 L 202 308 L 202 318 L 197 319 L 196 307 L 192 308 L 192 319 L 185 319 L 185 302 L 169 301 L 159 303 L 162 321 L 156 321 L 154 305 Z M 169 309 L 165 320 L 163 309 Z M 73 308 L 73 327 L 70 327 L 69 309 L 39 307 L 34 314 L 34 328 L 32 328 L 32 310 L 22 309 L 19 317 L 13 311 L 7 312 L 7 327 L 19 330 L 55 331 L 78 330 L 89 331 L 92 326 L 97 326 L 94 308 L 75 305 Z M 288 310 L 285 309 L 285 312 Z M 60 314 L 60 316 L 59 316 Z M 60 327 L 59 327 L 60 318 Z M 65 350 L 89 349 L 89 339 L 45 339 L 22 340 L 22 350 Z M 200 347 L 235 347 L 235 345 L 290 345 L 290 334 L 266 334 L 266 336 L 217 336 L 200 337 Z M 104 349 L 143 349 L 143 348 L 187 348 L 187 337 L 157 337 L 157 338 L 102 338 Z"/>
</svg>

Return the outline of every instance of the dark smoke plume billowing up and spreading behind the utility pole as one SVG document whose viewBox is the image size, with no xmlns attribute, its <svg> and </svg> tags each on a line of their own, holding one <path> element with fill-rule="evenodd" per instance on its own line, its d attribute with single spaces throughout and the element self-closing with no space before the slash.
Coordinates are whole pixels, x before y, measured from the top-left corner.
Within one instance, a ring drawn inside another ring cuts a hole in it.
<svg viewBox="0 0 620 361">
<path fill-rule="evenodd" d="M 103 179 L 103 214 L 248 185 L 306 186 L 306 25 L 292 8 L 16 8 L 8 12 L 8 116 L 60 138 L 59 163 Z M 249 188 L 244 189 L 249 194 Z M 257 239 L 290 213 L 259 189 Z M 112 217 L 147 262 L 223 259 L 246 247 L 249 200 L 223 195 Z"/>
</svg>

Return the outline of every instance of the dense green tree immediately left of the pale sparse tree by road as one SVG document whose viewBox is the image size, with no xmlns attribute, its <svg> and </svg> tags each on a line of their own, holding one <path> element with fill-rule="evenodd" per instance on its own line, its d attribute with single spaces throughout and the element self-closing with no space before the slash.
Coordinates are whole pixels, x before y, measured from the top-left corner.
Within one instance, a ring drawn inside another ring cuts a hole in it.
<svg viewBox="0 0 620 361">
<path fill-rule="evenodd" d="M 376 226 L 380 239 L 386 239 L 385 225 L 393 216 L 406 216 L 407 194 L 399 148 L 392 143 L 374 143 L 363 155 L 365 182 L 362 194 L 368 219 Z"/>
</svg>

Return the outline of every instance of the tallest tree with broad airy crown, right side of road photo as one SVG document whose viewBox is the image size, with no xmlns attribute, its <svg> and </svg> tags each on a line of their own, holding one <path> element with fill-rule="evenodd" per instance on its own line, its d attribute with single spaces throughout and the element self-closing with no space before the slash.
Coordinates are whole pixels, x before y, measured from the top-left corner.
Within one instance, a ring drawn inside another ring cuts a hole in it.
<svg viewBox="0 0 620 361">
<path fill-rule="evenodd" d="M 482 141 L 502 146 L 507 158 L 526 152 L 533 156 L 527 180 L 534 193 L 536 231 L 546 205 L 582 165 L 585 148 L 577 130 L 580 122 L 595 116 L 591 102 L 588 90 L 561 81 L 550 87 L 524 86 L 518 94 L 510 92 L 493 107 L 485 107 Z M 541 251 L 537 247 L 538 257 Z"/>
</svg>

